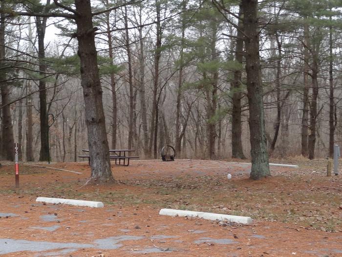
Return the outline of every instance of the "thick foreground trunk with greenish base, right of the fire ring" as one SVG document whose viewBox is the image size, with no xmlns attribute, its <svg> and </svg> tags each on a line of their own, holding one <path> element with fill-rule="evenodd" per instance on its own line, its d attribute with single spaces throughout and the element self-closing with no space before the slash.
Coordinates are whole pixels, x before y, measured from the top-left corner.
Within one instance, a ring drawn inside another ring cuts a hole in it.
<svg viewBox="0 0 342 257">
<path fill-rule="evenodd" d="M 242 0 L 244 10 L 247 96 L 252 157 L 252 179 L 270 176 L 260 74 L 257 0 Z"/>
</svg>

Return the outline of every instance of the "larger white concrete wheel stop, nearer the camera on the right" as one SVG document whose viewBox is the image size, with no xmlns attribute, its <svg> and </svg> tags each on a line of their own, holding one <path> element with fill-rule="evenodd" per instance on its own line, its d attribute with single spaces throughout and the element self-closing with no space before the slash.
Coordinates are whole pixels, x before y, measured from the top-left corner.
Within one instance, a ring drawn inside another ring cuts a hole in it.
<svg viewBox="0 0 342 257">
<path fill-rule="evenodd" d="M 175 210 L 175 209 L 161 209 L 159 215 L 168 216 L 182 216 L 182 217 L 199 217 L 210 220 L 223 220 L 242 224 L 252 224 L 251 217 L 235 216 L 211 212 L 191 211 L 191 210 Z"/>
</svg>

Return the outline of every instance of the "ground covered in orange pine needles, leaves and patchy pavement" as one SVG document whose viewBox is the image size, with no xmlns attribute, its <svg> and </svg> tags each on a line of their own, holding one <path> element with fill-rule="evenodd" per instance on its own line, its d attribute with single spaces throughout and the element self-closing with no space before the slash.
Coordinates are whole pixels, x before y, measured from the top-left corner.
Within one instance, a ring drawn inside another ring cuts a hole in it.
<svg viewBox="0 0 342 257">
<path fill-rule="evenodd" d="M 139 160 L 113 165 L 118 184 L 101 187 L 83 187 L 87 163 L 49 165 L 82 174 L 21 164 L 20 189 L 14 188 L 14 165 L 4 165 L 0 256 L 342 256 L 342 176 L 325 177 L 324 161 L 296 164 L 299 169 L 271 167 L 272 177 L 251 181 L 245 164 Z M 102 201 L 105 207 L 36 203 L 37 196 Z M 254 221 L 160 216 L 161 208 Z"/>
</svg>

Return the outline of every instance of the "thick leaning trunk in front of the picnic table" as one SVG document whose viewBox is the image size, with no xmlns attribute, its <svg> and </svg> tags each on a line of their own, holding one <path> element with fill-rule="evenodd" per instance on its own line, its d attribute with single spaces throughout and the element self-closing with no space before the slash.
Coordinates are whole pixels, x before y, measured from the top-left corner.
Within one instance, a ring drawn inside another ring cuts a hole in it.
<svg viewBox="0 0 342 257">
<path fill-rule="evenodd" d="M 78 55 L 81 60 L 81 85 L 85 100 L 85 123 L 91 167 L 91 182 L 113 182 L 102 88 L 97 65 L 95 30 L 92 23 L 90 0 L 75 0 Z"/>
</svg>

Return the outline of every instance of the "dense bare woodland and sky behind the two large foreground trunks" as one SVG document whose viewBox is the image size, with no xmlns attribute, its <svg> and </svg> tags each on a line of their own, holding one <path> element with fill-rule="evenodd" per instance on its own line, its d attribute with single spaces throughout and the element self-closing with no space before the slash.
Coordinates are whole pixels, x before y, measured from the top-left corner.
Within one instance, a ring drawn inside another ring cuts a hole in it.
<svg viewBox="0 0 342 257">
<path fill-rule="evenodd" d="M 88 146 L 76 25 L 5 14 L 53 12 L 50 0 L 0 2 L 1 157 L 13 160 L 19 142 L 23 161 L 77 161 Z M 239 1 L 91 3 L 110 148 L 157 158 L 171 144 L 179 158 L 250 158 Z M 258 4 L 271 157 L 331 156 L 342 140 L 341 4 Z"/>
</svg>

